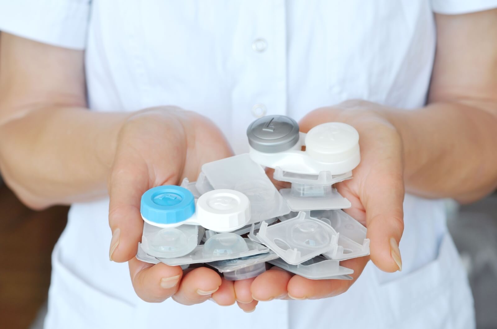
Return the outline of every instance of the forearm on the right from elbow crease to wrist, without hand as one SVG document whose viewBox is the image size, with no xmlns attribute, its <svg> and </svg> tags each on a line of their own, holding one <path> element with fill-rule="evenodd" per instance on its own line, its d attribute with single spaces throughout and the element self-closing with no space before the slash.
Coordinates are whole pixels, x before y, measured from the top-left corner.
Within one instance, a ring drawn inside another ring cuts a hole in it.
<svg viewBox="0 0 497 329">
<path fill-rule="evenodd" d="M 497 103 L 432 103 L 386 110 L 404 146 L 408 192 L 473 201 L 497 186 Z"/>
</svg>

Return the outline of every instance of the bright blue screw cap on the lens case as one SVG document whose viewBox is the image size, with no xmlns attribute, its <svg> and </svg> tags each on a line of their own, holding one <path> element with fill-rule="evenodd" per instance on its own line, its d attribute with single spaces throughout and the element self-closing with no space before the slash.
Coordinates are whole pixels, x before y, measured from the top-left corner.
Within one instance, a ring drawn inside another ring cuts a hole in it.
<svg viewBox="0 0 497 329">
<path fill-rule="evenodd" d="M 195 201 L 193 194 L 184 187 L 157 186 L 143 193 L 140 212 L 149 222 L 174 224 L 195 213 Z"/>
</svg>

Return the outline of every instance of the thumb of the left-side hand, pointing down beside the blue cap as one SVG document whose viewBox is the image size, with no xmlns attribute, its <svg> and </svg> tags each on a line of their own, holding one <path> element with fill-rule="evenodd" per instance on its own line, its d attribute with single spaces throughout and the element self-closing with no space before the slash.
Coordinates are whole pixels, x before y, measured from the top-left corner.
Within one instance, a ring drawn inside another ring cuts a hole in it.
<svg viewBox="0 0 497 329">
<path fill-rule="evenodd" d="M 149 176 L 141 166 L 133 158 L 126 164 L 116 163 L 109 180 L 109 225 L 112 230 L 109 258 L 113 261 L 133 258 L 142 238 L 140 200 L 148 189 Z"/>
</svg>

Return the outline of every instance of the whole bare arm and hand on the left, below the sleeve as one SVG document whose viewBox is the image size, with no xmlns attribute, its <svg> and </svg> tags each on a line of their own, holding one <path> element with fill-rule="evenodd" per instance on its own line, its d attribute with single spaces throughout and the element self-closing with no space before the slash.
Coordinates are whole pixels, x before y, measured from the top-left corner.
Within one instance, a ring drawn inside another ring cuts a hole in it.
<svg viewBox="0 0 497 329">
<path fill-rule="evenodd" d="M 0 167 L 6 182 L 33 208 L 108 192 L 109 258 L 129 261 L 133 287 L 145 301 L 235 303 L 233 282 L 212 269 L 183 273 L 179 266 L 135 257 L 143 231 L 142 193 L 194 178 L 203 163 L 230 155 L 220 131 L 189 111 L 88 111 L 83 52 L 2 35 Z"/>
</svg>

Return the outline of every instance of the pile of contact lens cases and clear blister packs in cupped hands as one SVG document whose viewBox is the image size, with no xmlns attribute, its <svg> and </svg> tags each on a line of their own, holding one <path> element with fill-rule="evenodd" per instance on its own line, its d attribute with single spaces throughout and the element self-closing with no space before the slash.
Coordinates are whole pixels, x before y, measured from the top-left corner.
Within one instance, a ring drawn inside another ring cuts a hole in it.
<svg viewBox="0 0 497 329">
<path fill-rule="evenodd" d="M 203 263 L 228 280 L 263 273 L 266 263 L 309 279 L 352 279 L 340 260 L 369 254 L 366 228 L 341 209 L 333 184 L 352 178 L 359 135 L 330 122 L 299 132 L 295 120 L 262 117 L 247 130 L 249 153 L 207 163 L 195 182 L 157 186 L 141 199 L 137 258 Z M 277 190 L 273 179 L 290 188 Z"/>
</svg>

